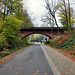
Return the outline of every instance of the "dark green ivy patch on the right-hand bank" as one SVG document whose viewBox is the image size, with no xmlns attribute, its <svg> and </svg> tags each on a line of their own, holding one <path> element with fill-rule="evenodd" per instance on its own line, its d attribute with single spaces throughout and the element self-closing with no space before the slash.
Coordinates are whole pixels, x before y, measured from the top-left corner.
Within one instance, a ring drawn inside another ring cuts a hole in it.
<svg viewBox="0 0 75 75">
<path fill-rule="evenodd" d="M 59 41 L 61 42 L 61 40 Z M 73 50 L 72 46 L 75 46 L 75 31 L 69 33 L 68 38 L 63 43 L 58 43 L 55 45 L 56 48 L 68 48 Z"/>
</svg>

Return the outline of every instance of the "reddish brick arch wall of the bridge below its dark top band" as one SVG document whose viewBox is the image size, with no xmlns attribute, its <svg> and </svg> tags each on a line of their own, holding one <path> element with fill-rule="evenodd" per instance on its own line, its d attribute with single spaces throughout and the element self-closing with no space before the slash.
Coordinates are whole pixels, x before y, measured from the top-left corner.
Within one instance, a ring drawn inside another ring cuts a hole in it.
<svg viewBox="0 0 75 75">
<path fill-rule="evenodd" d="M 55 38 L 56 36 L 59 35 L 58 31 L 53 31 L 53 35 L 51 35 L 51 31 L 21 31 L 20 33 L 22 37 L 26 37 L 31 34 L 44 34 L 50 38 Z M 63 31 L 60 31 L 60 34 L 65 35 Z"/>
</svg>

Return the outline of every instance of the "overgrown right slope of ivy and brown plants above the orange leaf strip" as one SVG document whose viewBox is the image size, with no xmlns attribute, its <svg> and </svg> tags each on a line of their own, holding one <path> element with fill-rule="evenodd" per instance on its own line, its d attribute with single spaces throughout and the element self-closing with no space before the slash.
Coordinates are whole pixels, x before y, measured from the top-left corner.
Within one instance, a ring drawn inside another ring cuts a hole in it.
<svg viewBox="0 0 75 75">
<path fill-rule="evenodd" d="M 75 30 L 65 36 L 61 36 L 61 38 L 54 43 L 54 47 L 62 48 L 66 51 L 69 50 L 72 55 L 75 55 Z"/>
</svg>

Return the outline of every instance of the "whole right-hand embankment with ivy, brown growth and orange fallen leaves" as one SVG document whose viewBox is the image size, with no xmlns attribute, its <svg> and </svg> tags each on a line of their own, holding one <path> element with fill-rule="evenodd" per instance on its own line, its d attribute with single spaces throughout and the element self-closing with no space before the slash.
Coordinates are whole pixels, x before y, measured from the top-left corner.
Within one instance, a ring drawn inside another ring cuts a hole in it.
<svg viewBox="0 0 75 75">
<path fill-rule="evenodd" d="M 75 29 L 66 34 L 57 40 L 50 39 L 45 44 L 52 46 L 61 54 L 75 61 Z"/>
</svg>

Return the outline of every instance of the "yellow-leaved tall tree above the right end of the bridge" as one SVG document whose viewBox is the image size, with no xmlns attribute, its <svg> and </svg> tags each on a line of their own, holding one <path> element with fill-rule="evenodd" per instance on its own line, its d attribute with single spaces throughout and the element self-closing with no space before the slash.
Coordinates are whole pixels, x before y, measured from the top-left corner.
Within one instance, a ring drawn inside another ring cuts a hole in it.
<svg viewBox="0 0 75 75">
<path fill-rule="evenodd" d="M 70 8 L 70 13 L 69 13 L 69 8 L 68 5 L 66 5 L 65 0 L 60 0 L 58 4 L 58 10 L 59 12 L 59 17 L 61 17 L 60 22 L 62 23 L 63 27 L 67 27 L 68 30 L 74 25 L 75 23 L 75 15 L 74 11 L 72 8 Z M 69 17 L 70 16 L 70 17 Z"/>
</svg>

